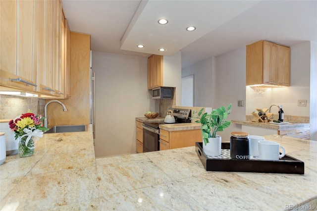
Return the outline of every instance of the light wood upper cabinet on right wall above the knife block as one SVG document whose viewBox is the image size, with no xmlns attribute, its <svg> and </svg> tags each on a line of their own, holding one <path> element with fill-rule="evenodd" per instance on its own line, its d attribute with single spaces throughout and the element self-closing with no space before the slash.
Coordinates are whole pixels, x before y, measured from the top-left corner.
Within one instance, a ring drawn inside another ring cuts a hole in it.
<svg viewBox="0 0 317 211">
<path fill-rule="evenodd" d="M 290 48 L 268 41 L 247 46 L 247 85 L 290 86 Z"/>
</svg>

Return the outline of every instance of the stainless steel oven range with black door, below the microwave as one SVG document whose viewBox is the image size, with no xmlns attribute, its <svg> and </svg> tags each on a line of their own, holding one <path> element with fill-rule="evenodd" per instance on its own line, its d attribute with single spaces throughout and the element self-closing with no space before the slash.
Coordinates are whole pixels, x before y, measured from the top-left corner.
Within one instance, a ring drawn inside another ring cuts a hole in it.
<svg viewBox="0 0 317 211">
<path fill-rule="evenodd" d="M 191 122 L 191 109 L 169 108 L 173 111 L 175 123 Z M 175 124 L 174 123 L 174 124 Z M 143 122 L 143 152 L 159 151 L 159 125 L 166 124 L 163 121 Z"/>
</svg>

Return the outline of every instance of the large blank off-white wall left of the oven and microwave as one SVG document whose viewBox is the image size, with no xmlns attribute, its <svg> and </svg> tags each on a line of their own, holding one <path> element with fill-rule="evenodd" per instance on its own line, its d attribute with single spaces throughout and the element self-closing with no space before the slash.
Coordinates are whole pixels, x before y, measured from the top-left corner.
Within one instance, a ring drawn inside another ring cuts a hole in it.
<svg viewBox="0 0 317 211">
<path fill-rule="evenodd" d="M 147 57 L 93 52 L 96 73 L 96 157 L 136 153 L 135 117 L 154 111 Z"/>
</svg>

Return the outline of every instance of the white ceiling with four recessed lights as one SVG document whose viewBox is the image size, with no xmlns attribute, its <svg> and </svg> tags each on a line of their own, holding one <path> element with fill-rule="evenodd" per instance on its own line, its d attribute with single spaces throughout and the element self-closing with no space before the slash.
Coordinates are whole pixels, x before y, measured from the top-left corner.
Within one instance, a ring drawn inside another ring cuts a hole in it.
<svg viewBox="0 0 317 211">
<path fill-rule="evenodd" d="M 91 35 L 92 51 L 146 57 L 181 51 L 182 67 L 262 39 L 317 42 L 317 0 L 62 0 L 62 6 L 70 30 Z M 168 24 L 159 25 L 160 18 Z M 197 30 L 187 32 L 190 25 Z"/>
</svg>

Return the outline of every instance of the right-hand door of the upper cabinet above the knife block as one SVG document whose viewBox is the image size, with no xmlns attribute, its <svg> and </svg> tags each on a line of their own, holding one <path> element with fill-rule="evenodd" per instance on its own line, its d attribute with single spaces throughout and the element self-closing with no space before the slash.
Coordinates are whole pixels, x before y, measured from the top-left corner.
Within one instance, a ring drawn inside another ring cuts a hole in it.
<svg viewBox="0 0 317 211">
<path fill-rule="evenodd" d="M 277 45 L 277 85 L 290 85 L 290 51 L 288 47 Z"/>
</svg>

